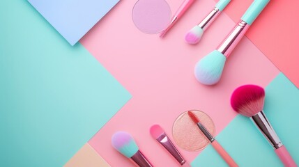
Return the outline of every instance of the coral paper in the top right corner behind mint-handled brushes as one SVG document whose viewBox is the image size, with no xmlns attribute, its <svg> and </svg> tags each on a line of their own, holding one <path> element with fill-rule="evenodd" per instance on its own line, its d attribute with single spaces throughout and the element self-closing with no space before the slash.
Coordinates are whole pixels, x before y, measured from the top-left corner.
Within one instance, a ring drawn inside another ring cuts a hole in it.
<svg viewBox="0 0 299 167">
<path fill-rule="evenodd" d="M 238 22 L 252 0 L 231 1 L 224 12 Z M 270 1 L 246 33 L 256 47 L 299 88 L 299 1 Z M 296 20 L 296 21 L 295 21 Z"/>
</svg>

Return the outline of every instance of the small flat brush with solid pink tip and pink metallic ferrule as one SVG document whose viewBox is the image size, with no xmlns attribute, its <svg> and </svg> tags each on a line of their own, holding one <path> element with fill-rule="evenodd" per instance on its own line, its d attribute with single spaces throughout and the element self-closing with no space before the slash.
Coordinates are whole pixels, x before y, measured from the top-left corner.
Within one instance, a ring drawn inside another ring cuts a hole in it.
<svg viewBox="0 0 299 167">
<path fill-rule="evenodd" d="M 190 164 L 182 157 L 180 152 L 176 149 L 170 138 L 165 134 L 160 125 L 153 125 L 150 129 L 151 136 L 155 138 L 175 159 L 181 166 L 191 167 Z"/>
</svg>

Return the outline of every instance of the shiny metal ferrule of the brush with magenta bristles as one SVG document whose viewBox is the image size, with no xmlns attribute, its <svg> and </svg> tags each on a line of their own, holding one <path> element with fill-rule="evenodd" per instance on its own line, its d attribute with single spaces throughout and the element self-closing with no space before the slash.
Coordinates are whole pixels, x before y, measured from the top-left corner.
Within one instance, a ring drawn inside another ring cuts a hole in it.
<svg viewBox="0 0 299 167">
<path fill-rule="evenodd" d="M 282 147 L 282 142 L 278 138 L 273 127 L 270 125 L 270 122 L 266 118 L 266 115 L 265 113 L 263 113 L 263 111 L 256 113 L 256 115 L 252 116 L 251 119 L 261 130 L 261 133 L 263 134 L 263 136 L 267 138 L 267 140 L 273 146 L 273 148 L 277 149 Z"/>
</svg>

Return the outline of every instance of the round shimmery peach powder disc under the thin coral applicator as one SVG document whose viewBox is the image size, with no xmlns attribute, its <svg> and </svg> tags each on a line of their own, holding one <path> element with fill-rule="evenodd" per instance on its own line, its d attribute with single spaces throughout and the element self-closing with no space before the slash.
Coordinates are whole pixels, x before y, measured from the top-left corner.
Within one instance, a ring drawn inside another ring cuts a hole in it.
<svg viewBox="0 0 299 167">
<path fill-rule="evenodd" d="M 208 129 L 208 132 L 215 136 L 215 125 L 213 120 L 203 111 L 190 110 L 194 113 L 200 122 Z M 188 111 L 182 113 L 172 127 L 172 135 L 174 142 L 184 150 L 187 151 L 199 151 L 210 143 L 206 136 L 201 132 L 199 127 L 188 116 Z"/>
</svg>

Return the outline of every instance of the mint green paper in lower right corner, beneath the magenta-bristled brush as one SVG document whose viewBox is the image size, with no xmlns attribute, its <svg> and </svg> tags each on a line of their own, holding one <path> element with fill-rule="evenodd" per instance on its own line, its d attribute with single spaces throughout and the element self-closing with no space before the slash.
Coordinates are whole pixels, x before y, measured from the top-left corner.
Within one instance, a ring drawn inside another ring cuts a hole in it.
<svg viewBox="0 0 299 167">
<path fill-rule="evenodd" d="M 298 109 L 299 90 L 280 73 L 266 87 L 264 111 L 296 164 L 299 164 Z M 249 118 L 236 116 L 216 138 L 239 166 L 283 166 L 273 147 Z M 208 145 L 192 161 L 192 166 L 227 166 L 227 164 L 211 145 Z"/>
</svg>

